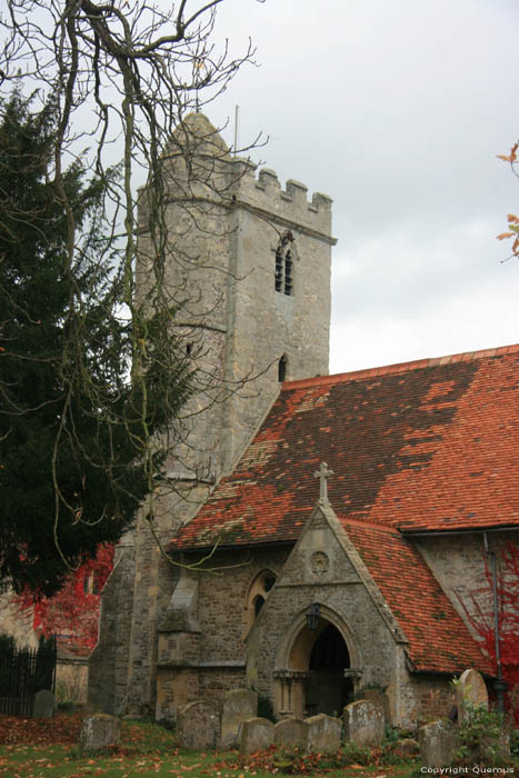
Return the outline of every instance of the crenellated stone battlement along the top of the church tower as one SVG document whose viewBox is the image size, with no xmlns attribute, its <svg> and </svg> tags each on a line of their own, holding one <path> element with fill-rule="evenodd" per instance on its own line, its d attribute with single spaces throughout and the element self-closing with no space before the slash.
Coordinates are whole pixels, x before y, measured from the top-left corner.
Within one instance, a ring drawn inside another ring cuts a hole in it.
<svg viewBox="0 0 519 778">
<path fill-rule="evenodd" d="M 275 170 L 258 170 L 254 162 L 243 157 L 232 158 L 231 166 L 239 203 L 257 208 L 275 219 L 278 217 L 320 232 L 336 242 L 331 238 L 331 197 L 313 192 L 309 200 L 308 187 L 292 178 L 287 180 L 286 188 L 282 189 Z"/>
</svg>

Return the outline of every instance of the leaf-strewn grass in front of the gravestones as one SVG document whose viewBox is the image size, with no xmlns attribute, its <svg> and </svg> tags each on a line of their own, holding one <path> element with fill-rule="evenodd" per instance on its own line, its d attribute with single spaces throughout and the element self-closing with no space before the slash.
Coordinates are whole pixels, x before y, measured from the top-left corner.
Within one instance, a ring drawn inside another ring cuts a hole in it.
<svg viewBox="0 0 519 778">
<path fill-rule="evenodd" d="M 0 717 L 0 775 L 4 778 L 271 778 L 263 760 L 241 760 L 237 751 L 200 754 L 177 747 L 174 735 L 152 724 L 124 721 L 121 745 L 102 754 L 82 755 L 77 734 L 78 717 L 60 715 L 51 721 Z M 3 725 L 3 729 L 2 726 Z M 54 736 L 52 736 L 54 732 Z M 56 740 L 57 742 L 52 742 Z M 409 778 L 411 766 L 353 765 L 327 769 L 329 778 Z M 281 776 L 281 770 L 276 770 Z M 303 771 L 298 775 L 308 775 Z"/>
</svg>

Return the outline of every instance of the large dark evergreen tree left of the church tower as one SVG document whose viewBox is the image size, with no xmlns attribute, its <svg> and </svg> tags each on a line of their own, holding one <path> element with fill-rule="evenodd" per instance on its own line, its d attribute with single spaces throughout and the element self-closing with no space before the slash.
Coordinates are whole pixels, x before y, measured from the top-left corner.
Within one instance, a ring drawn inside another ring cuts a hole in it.
<svg viewBox="0 0 519 778">
<path fill-rule="evenodd" d="M 154 488 L 189 372 L 171 339 L 161 348 L 164 311 L 138 333 L 149 348 L 130 378 L 110 181 L 80 160 L 53 176 L 52 104 L 32 111 L 17 91 L 0 108 L 0 579 L 52 595 Z"/>
</svg>

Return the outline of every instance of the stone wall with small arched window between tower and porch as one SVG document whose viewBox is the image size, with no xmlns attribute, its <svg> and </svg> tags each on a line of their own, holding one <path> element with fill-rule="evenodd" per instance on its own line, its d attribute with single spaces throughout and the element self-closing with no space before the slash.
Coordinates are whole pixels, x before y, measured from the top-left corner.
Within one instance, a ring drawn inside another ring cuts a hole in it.
<svg viewBox="0 0 519 778">
<path fill-rule="evenodd" d="M 279 576 L 287 555 L 279 547 L 221 551 L 211 557 L 213 572 L 182 573 L 180 584 L 190 584 L 182 595 L 173 592 L 159 626 L 158 719 L 174 719 L 181 705 L 200 696 L 217 701 L 247 686 L 249 590 L 263 570 Z"/>
</svg>

